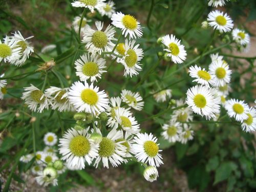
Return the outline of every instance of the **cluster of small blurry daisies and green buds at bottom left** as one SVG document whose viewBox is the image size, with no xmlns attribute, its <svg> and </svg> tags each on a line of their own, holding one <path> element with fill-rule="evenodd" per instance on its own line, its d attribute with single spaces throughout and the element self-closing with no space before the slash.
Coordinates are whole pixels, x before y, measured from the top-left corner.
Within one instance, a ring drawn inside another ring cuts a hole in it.
<svg viewBox="0 0 256 192">
<path fill-rule="evenodd" d="M 27 154 L 20 157 L 24 163 L 32 162 L 31 172 L 35 175 L 36 182 L 39 185 L 53 186 L 58 185 L 58 176 L 65 172 L 68 165 L 65 165 L 57 154 L 58 138 L 54 133 L 47 133 L 44 136 L 45 148 L 43 151 L 37 151 L 34 154 Z"/>
</svg>

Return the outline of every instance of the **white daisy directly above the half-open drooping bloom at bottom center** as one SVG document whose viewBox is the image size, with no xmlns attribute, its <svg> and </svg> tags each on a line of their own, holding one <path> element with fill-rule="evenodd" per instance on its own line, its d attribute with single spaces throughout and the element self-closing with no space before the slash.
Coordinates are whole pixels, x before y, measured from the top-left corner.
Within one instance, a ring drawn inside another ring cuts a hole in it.
<svg viewBox="0 0 256 192">
<path fill-rule="evenodd" d="M 138 161 L 159 167 L 160 164 L 163 164 L 163 161 L 161 160 L 162 156 L 159 154 L 162 150 L 159 150 L 158 145 L 157 138 L 151 133 L 149 135 L 138 133 L 134 137 L 132 152 Z"/>
</svg>

